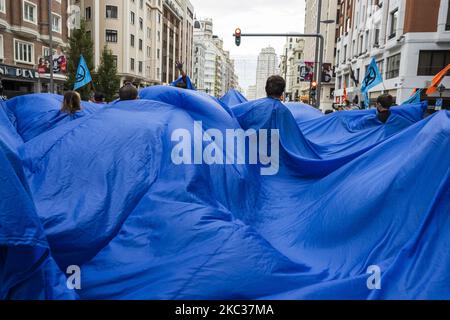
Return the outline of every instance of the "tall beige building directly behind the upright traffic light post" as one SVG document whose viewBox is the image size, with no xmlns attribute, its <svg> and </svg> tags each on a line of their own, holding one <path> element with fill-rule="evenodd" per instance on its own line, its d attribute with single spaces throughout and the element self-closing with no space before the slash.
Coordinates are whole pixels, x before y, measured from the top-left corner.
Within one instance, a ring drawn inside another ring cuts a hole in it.
<svg viewBox="0 0 450 320">
<path fill-rule="evenodd" d="M 320 108 L 322 111 L 332 108 L 334 102 L 335 77 L 334 77 L 334 61 L 336 54 L 336 22 L 337 22 L 337 3 L 339 0 L 322 0 L 322 9 L 320 17 L 320 34 L 324 37 L 324 60 L 323 68 L 320 70 L 321 94 Z M 305 33 L 317 33 L 317 14 L 318 0 L 306 0 L 305 15 Z M 315 62 L 316 39 L 307 38 L 305 40 L 305 61 Z M 314 64 L 317 66 L 317 63 Z M 312 101 L 314 97 L 310 97 L 311 85 L 302 82 L 302 96 Z"/>
</svg>

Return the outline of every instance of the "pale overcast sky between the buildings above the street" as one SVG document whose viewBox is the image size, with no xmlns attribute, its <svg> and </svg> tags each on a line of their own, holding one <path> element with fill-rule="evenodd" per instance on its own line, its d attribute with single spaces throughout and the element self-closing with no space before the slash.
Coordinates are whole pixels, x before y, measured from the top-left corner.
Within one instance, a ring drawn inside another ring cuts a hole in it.
<svg viewBox="0 0 450 320">
<path fill-rule="evenodd" d="M 262 48 L 271 45 L 282 54 L 283 38 L 243 38 L 234 44 L 233 33 L 303 32 L 304 0 L 190 0 L 198 19 L 212 18 L 214 34 L 223 38 L 225 50 L 235 59 L 239 83 L 244 90 L 256 81 L 256 62 Z"/>
</svg>

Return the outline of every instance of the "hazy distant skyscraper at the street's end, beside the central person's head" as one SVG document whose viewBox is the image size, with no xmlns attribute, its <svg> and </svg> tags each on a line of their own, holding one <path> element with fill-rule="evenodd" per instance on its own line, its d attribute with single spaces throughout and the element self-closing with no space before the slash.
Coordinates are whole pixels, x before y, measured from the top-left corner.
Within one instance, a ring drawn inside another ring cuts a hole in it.
<svg viewBox="0 0 450 320">
<path fill-rule="evenodd" d="M 267 78 L 278 73 L 278 57 L 275 49 L 272 47 L 262 49 L 256 67 L 256 99 L 266 96 Z"/>
</svg>

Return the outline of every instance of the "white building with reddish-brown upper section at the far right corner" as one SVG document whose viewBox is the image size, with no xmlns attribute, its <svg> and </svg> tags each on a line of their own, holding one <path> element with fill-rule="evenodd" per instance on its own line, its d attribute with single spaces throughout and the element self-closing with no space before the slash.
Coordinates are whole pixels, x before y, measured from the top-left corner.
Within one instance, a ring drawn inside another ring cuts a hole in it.
<svg viewBox="0 0 450 320">
<path fill-rule="evenodd" d="M 351 74 L 361 82 L 372 59 L 384 82 L 370 90 L 371 104 L 382 92 L 402 103 L 450 63 L 448 0 L 343 0 L 337 12 L 336 102 L 345 85 L 349 98 L 361 103 L 360 86 Z M 450 88 L 450 80 L 443 85 Z M 449 105 L 450 91 L 441 94 Z M 433 103 L 438 96 L 428 99 Z"/>
</svg>

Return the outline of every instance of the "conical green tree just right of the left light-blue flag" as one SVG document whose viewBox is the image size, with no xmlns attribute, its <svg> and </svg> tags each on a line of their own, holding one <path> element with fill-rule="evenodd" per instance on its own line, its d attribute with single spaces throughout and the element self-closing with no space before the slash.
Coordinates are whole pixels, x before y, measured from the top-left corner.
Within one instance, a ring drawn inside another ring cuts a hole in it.
<svg viewBox="0 0 450 320">
<path fill-rule="evenodd" d="M 106 101 L 111 102 L 120 88 L 120 77 L 117 75 L 117 66 L 112 51 L 103 48 L 100 66 L 95 75 L 95 90 L 105 95 Z"/>
</svg>

